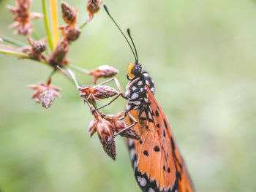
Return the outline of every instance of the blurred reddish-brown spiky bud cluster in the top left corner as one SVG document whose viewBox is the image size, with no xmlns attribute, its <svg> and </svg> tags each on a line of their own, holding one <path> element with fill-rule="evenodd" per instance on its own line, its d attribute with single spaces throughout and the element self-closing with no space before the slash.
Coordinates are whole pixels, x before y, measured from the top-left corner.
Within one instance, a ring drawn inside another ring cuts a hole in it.
<svg viewBox="0 0 256 192">
<path fill-rule="evenodd" d="M 15 4 L 16 7 L 7 6 L 7 9 L 14 15 L 13 20 L 15 20 L 10 28 L 17 28 L 15 31 L 17 34 L 30 35 L 33 30 L 31 19 L 42 18 L 43 15 L 35 12 L 29 13 L 30 0 L 15 0 Z"/>
</svg>

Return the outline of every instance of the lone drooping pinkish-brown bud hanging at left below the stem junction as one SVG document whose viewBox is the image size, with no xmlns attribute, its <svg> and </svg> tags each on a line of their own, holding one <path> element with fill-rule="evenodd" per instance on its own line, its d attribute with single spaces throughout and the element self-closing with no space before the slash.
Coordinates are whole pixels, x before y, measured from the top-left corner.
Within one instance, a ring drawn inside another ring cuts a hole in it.
<svg viewBox="0 0 256 192">
<path fill-rule="evenodd" d="M 42 107 L 45 108 L 53 104 L 55 97 L 61 97 L 58 93 L 61 89 L 50 85 L 50 80 L 48 80 L 47 84 L 39 82 L 37 85 L 27 85 L 27 87 L 36 90 L 31 99 L 36 99 L 37 103 L 42 104 Z"/>
</svg>

